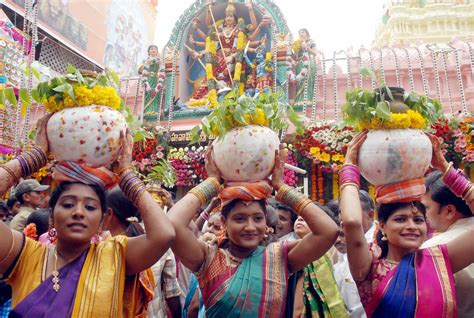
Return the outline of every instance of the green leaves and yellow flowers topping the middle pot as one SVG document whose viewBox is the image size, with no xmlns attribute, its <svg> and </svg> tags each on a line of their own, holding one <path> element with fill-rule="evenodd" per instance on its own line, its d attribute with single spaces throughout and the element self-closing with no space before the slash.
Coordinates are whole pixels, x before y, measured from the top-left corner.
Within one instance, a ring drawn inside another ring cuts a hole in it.
<svg viewBox="0 0 474 318">
<path fill-rule="evenodd" d="M 207 136 L 224 138 L 232 128 L 262 125 L 280 131 L 293 123 L 300 133 L 304 130 L 303 118 L 283 102 L 283 92 L 260 93 L 256 97 L 238 96 L 230 91 L 214 110 L 191 130 L 191 144 L 198 142 L 202 130 Z"/>
</svg>

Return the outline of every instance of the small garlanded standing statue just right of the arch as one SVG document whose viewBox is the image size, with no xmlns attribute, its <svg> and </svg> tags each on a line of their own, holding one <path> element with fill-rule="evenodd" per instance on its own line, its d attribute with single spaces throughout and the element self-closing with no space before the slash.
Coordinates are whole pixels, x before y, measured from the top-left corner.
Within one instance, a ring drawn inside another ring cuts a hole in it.
<svg viewBox="0 0 474 318">
<path fill-rule="evenodd" d="M 312 96 L 304 100 L 304 91 L 307 86 L 308 95 L 313 92 L 315 58 L 318 51 L 307 29 L 299 30 L 298 35 L 299 38 L 292 45 L 292 54 L 287 57 L 287 75 L 290 85 L 290 103 L 300 105 L 311 101 Z"/>
</svg>

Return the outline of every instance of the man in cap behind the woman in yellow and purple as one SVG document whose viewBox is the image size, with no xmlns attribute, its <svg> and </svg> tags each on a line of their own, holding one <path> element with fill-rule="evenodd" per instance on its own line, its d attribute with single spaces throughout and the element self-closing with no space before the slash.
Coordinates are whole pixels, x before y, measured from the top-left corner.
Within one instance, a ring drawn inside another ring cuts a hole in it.
<svg viewBox="0 0 474 318">
<path fill-rule="evenodd" d="M 10 228 L 19 232 L 23 231 L 30 213 L 47 205 L 48 195 L 45 195 L 47 190 L 49 186 L 41 185 L 34 179 L 23 180 L 18 184 L 15 188 L 15 197 L 20 202 L 21 208 L 10 222 Z"/>
</svg>

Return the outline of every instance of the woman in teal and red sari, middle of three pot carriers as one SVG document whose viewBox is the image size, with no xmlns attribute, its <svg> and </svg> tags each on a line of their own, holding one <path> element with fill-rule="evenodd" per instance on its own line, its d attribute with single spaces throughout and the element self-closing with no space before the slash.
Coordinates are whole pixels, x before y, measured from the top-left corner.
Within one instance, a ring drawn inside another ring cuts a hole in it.
<svg viewBox="0 0 474 318">
<path fill-rule="evenodd" d="M 268 181 L 228 183 L 221 190 L 212 148 L 206 154 L 209 178 L 176 203 L 168 214 L 176 230 L 174 253 L 196 273 L 206 317 L 282 317 L 290 272 L 318 259 L 334 243 L 338 228 L 306 196 L 283 183 L 283 162 L 277 154 Z M 267 230 L 266 199 L 277 200 L 303 217 L 311 233 L 291 242 L 262 246 Z M 188 228 L 196 211 L 219 193 L 225 237 L 207 245 Z"/>
</svg>

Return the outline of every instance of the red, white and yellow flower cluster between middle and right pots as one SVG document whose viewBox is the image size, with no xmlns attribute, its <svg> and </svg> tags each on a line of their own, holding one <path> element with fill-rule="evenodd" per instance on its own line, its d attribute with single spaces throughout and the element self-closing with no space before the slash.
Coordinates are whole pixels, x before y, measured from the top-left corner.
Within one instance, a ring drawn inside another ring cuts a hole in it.
<svg viewBox="0 0 474 318">
<path fill-rule="evenodd" d="M 338 128 L 320 125 L 308 128 L 296 135 L 293 143 L 296 151 L 312 163 L 319 164 L 325 171 L 337 171 L 344 163 L 347 144 L 354 137 L 350 127 Z"/>
</svg>

